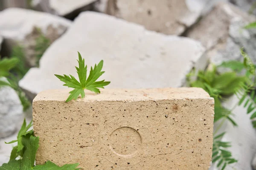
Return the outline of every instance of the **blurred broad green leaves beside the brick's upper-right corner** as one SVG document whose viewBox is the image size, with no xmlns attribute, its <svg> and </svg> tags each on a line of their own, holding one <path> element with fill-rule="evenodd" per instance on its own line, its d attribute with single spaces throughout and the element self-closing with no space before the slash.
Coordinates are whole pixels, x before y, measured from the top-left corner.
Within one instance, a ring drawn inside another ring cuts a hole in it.
<svg viewBox="0 0 256 170">
<path fill-rule="evenodd" d="M 227 67 L 227 62 L 223 65 Z M 226 118 L 230 120 L 233 125 L 236 125 L 236 122 L 231 118 L 231 111 L 221 105 L 221 99 L 224 96 L 229 96 L 239 91 L 247 81 L 247 77 L 238 76 L 235 72 L 220 74 L 217 72 L 214 65 L 212 67 L 212 69 L 208 69 L 206 71 L 199 71 L 197 79 L 194 82 L 190 82 L 190 86 L 203 88 L 211 97 L 214 98 L 215 122 L 221 118 Z"/>
</svg>

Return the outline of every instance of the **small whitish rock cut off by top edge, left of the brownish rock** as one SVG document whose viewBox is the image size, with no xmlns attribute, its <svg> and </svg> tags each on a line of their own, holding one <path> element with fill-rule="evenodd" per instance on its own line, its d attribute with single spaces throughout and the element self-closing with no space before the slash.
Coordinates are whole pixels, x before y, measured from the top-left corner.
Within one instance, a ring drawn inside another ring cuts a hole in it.
<svg viewBox="0 0 256 170">
<path fill-rule="evenodd" d="M 72 15 L 92 8 L 97 0 L 49 0 L 49 6 L 55 14 L 61 16 Z"/>
</svg>

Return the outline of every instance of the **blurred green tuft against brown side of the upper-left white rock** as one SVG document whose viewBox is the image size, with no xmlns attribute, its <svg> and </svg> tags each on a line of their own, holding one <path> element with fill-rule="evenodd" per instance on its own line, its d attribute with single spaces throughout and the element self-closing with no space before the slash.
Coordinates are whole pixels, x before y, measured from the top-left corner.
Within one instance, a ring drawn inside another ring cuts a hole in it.
<svg viewBox="0 0 256 170">
<path fill-rule="evenodd" d="M 41 32 L 41 31 L 40 31 Z M 43 33 L 36 39 L 35 53 L 36 53 L 36 64 L 39 66 L 39 60 L 43 56 L 44 52 L 51 45 L 51 41 L 44 36 Z"/>
</svg>

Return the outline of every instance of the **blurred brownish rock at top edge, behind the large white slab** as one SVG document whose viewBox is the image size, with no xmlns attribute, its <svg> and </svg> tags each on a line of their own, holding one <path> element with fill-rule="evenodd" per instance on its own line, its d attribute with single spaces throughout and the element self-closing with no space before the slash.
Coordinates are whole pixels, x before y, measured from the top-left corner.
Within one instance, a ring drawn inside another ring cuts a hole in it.
<svg viewBox="0 0 256 170">
<path fill-rule="evenodd" d="M 196 22 L 203 8 L 201 0 L 108 0 L 107 13 L 148 30 L 180 35 Z"/>
</svg>

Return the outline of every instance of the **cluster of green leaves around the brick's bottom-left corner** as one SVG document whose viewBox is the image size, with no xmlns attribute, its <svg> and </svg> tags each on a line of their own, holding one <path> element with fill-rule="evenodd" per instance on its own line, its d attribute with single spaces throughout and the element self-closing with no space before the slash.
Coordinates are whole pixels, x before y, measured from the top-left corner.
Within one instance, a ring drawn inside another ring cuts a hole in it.
<svg viewBox="0 0 256 170">
<path fill-rule="evenodd" d="M 18 133 L 17 140 L 10 143 L 18 142 L 17 146 L 13 147 L 10 160 L 3 164 L 0 170 L 79 170 L 77 164 L 65 164 L 62 167 L 57 166 L 51 161 L 47 161 L 43 165 L 34 165 L 35 155 L 39 147 L 39 137 L 35 137 L 33 130 L 29 130 L 32 122 L 26 126 L 24 120 L 23 125 Z M 20 156 L 19 160 L 16 160 Z"/>
</svg>

